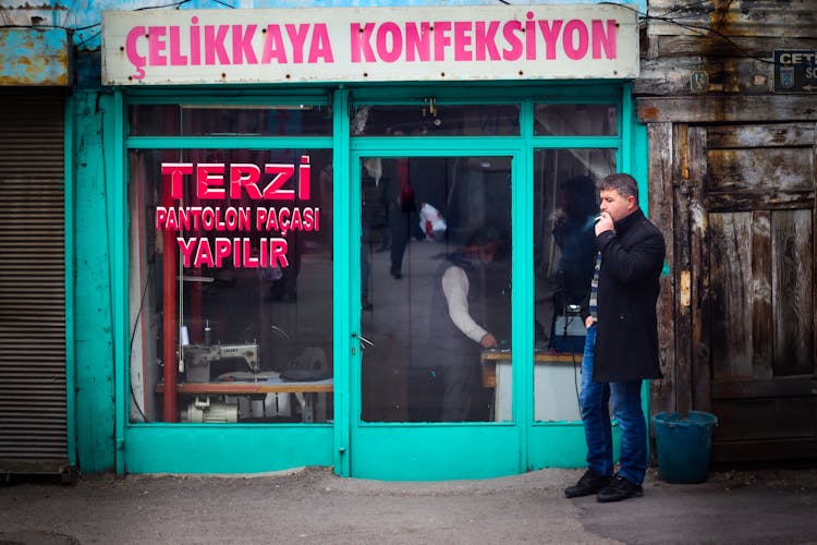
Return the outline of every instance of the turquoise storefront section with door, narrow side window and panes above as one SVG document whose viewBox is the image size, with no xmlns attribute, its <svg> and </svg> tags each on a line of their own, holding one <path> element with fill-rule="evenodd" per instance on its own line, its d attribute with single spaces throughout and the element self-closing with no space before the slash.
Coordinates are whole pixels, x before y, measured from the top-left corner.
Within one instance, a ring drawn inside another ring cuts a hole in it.
<svg viewBox="0 0 817 545">
<path fill-rule="evenodd" d="M 575 307 L 594 252 L 566 219 L 617 170 L 617 106 L 425 104 L 353 109 L 344 471 L 580 467 Z"/>
</svg>

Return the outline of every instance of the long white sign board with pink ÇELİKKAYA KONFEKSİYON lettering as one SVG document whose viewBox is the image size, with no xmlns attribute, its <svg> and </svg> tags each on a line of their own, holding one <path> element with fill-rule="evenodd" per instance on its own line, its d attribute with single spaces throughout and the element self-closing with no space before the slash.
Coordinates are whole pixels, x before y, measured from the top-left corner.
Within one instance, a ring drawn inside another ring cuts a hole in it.
<svg viewBox="0 0 817 545">
<path fill-rule="evenodd" d="M 107 11 L 106 85 L 634 78 L 625 4 Z"/>
</svg>

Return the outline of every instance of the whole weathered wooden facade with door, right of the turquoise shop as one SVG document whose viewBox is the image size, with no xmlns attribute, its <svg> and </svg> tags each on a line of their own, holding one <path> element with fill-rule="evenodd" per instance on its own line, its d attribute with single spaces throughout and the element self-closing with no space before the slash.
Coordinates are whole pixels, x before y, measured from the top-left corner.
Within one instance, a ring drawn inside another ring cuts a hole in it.
<svg viewBox="0 0 817 545">
<path fill-rule="evenodd" d="M 773 88 L 773 51 L 815 38 L 815 0 L 655 0 L 643 25 L 633 88 L 672 246 L 651 412 L 714 412 L 716 461 L 817 459 L 817 94 Z"/>
</svg>

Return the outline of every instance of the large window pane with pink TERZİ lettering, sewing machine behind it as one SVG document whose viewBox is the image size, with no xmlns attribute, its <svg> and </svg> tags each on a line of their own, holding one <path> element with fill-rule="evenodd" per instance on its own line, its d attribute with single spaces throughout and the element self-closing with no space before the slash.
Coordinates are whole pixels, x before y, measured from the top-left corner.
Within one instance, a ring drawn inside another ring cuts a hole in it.
<svg viewBox="0 0 817 545">
<path fill-rule="evenodd" d="M 132 422 L 331 421 L 331 152 L 129 162 Z"/>
</svg>

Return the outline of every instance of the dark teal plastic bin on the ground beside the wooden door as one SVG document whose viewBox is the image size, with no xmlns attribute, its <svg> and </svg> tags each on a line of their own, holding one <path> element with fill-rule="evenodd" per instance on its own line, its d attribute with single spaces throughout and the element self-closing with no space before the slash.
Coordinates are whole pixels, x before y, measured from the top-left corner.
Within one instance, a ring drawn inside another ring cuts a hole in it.
<svg viewBox="0 0 817 545">
<path fill-rule="evenodd" d="M 690 411 L 660 412 L 653 416 L 658 452 L 658 472 L 668 483 L 703 483 L 709 471 L 712 428 L 718 424 L 714 414 Z"/>
</svg>

